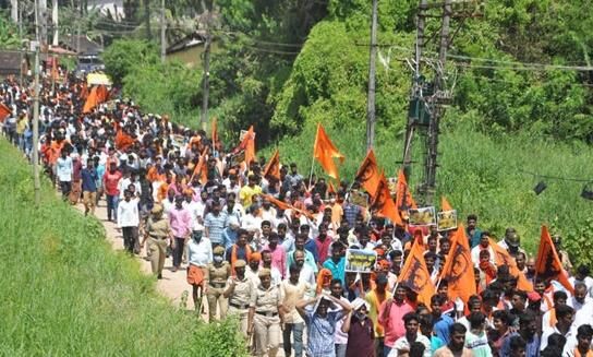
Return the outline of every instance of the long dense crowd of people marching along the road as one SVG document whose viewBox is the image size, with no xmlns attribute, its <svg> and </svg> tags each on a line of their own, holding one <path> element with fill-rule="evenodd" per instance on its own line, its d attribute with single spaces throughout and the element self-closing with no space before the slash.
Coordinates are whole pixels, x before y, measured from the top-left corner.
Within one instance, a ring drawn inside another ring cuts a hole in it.
<svg viewBox="0 0 593 357">
<path fill-rule="evenodd" d="M 463 301 L 440 276 L 452 230 L 389 222 L 350 200 L 355 182 L 334 189 L 294 163 L 278 178 L 266 175 L 265 158 L 237 159 L 250 138 L 229 145 L 113 93 L 84 110 L 90 88 L 83 81 L 44 83 L 39 147 L 32 142 L 32 90 L 10 78 L 1 83 L 11 111 L 5 138 L 29 157 L 38 150 L 63 200 L 82 200 L 86 215 L 105 199 L 125 250 L 146 254 L 155 278 L 166 265 L 185 273 L 196 309 L 204 298 L 210 322 L 235 317 L 254 355 L 593 355 L 593 279 L 586 266 L 570 264 L 559 236 L 554 249 L 570 287 L 537 276 L 515 229 L 496 242 L 469 215 L 463 237 L 476 294 Z M 398 278 L 415 243 L 436 289 L 429 301 Z M 522 275 L 497 262 L 494 248 Z M 349 249 L 374 252 L 373 271 L 347 271 Z"/>
</svg>

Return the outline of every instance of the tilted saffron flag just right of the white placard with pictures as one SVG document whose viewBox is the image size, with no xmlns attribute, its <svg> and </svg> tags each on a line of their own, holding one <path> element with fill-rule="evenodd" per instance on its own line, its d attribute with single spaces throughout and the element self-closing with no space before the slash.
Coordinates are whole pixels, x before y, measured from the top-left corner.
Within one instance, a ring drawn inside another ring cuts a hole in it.
<svg viewBox="0 0 593 357">
<path fill-rule="evenodd" d="M 417 301 L 431 306 L 431 298 L 435 294 L 435 285 L 431 279 L 431 273 L 424 261 L 424 247 L 422 242 L 414 241 L 408 259 L 401 267 L 398 276 L 401 284 L 417 294 Z"/>
</svg>

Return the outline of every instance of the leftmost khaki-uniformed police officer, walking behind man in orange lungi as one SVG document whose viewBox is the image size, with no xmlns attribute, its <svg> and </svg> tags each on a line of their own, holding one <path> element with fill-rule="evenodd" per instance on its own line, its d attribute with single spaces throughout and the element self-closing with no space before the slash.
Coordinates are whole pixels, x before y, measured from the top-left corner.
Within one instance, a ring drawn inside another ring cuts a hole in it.
<svg viewBox="0 0 593 357">
<path fill-rule="evenodd" d="M 150 267 L 157 278 L 162 278 L 162 267 L 167 258 L 167 240 L 171 240 L 171 229 L 169 219 L 162 216 L 162 206 L 156 204 L 150 211 L 150 216 L 146 222 L 144 230 L 144 240 L 142 246 L 148 240 L 148 251 L 150 255 Z"/>
</svg>

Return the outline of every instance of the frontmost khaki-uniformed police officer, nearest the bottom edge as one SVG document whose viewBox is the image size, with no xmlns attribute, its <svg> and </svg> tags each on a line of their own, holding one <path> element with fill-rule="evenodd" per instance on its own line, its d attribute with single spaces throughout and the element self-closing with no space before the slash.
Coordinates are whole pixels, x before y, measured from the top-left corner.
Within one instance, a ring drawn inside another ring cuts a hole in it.
<svg viewBox="0 0 593 357">
<path fill-rule="evenodd" d="M 282 294 L 278 286 L 271 285 L 269 269 L 259 270 L 259 286 L 252 294 L 249 313 L 249 330 L 255 333 L 255 355 L 266 353 L 275 357 L 280 348 L 281 329 L 283 325 Z"/>
</svg>

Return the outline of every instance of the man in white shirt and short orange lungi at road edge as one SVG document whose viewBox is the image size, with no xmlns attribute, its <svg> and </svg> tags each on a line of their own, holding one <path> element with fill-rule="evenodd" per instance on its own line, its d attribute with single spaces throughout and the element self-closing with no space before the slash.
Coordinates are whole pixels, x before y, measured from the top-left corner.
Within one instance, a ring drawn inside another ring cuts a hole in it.
<svg viewBox="0 0 593 357">
<path fill-rule="evenodd" d="M 192 298 L 196 311 L 201 311 L 202 297 L 198 299 L 198 290 L 203 288 L 204 275 L 208 264 L 213 262 L 213 247 L 210 240 L 203 237 L 204 227 L 196 223 L 192 230 L 192 239 L 187 245 L 187 284 L 192 285 Z"/>
</svg>

